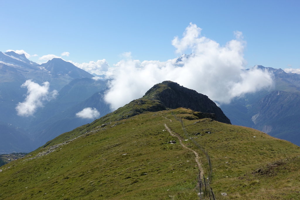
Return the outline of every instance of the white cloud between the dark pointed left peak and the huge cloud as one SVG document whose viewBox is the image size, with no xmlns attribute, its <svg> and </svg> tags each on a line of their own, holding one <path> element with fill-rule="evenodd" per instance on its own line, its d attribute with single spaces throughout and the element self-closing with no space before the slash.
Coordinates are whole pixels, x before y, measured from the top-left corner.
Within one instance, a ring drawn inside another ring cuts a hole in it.
<svg viewBox="0 0 300 200">
<path fill-rule="evenodd" d="M 76 67 L 79 67 L 80 69 L 87 71 L 88 73 L 91 74 L 95 73 L 97 75 L 105 74 L 108 68 L 110 67 L 105 59 L 97 60 L 96 62 L 95 61 L 90 61 L 88 63 L 84 62 L 81 64 L 73 61 L 68 61 L 68 62 L 72 63 Z"/>
</svg>

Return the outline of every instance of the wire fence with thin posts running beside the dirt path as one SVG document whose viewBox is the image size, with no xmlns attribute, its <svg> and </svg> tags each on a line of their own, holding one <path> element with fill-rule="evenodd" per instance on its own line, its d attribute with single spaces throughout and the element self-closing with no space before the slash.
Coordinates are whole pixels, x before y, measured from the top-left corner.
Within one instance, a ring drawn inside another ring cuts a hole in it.
<svg viewBox="0 0 300 200">
<path fill-rule="evenodd" d="M 202 145 L 199 145 L 195 139 L 193 139 L 193 137 L 189 137 L 187 135 L 187 131 L 186 128 L 184 126 L 184 123 L 182 121 L 182 118 L 177 117 L 173 111 L 172 111 L 172 115 L 174 116 L 174 118 L 179 121 L 181 123 L 182 126 L 182 130 L 184 132 L 184 135 L 187 137 L 187 139 L 190 139 L 194 145 L 201 149 L 203 151 L 203 153 L 206 155 L 206 159 L 208 162 L 208 168 L 207 168 L 207 172 L 208 172 L 208 176 L 207 178 L 205 178 L 205 175 L 203 174 L 203 177 L 201 177 L 201 172 L 199 170 L 198 176 L 197 176 L 197 180 L 198 180 L 198 186 L 199 186 L 199 193 L 198 196 L 200 197 L 200 200 L 202 200 L 203 198 L 209 198 L 210 200 L 213 199 L 215 200 L 215 196 L 214 196 L 214 192 L 210 186 L 211 180 L 212 180 L 212 166 L 211 166 L 211 161 L 210 161 L 210 156 L 208 154 L 208 151 L 205 151 L 205 148 Z"/>
</svg>

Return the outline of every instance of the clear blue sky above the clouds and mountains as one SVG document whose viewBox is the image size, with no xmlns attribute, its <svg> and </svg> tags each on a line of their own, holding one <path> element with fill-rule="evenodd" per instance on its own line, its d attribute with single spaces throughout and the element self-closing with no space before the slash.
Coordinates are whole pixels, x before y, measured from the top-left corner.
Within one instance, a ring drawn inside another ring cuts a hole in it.
<svg viewBox="0 0 300 200">
<path fill-rule="evenodd" d="M 190 22 L 220 45 L 241 31 L 245 67 L 300 68 L 300 1 L 0 1 L 0 51 L 23 49 L 38 61 L 69 52 L 76 63 L 124 52 L 141 61 L 180 56 L 172 46 Z M 185 53 L 190 53 L 188 49 Z"/>
</svg>

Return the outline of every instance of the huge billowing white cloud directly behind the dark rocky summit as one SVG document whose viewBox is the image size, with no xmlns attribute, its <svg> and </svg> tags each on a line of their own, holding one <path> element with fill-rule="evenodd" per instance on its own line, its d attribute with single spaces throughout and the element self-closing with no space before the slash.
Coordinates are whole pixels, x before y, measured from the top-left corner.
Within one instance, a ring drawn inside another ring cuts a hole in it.
<svg viewBox="0 0 300 200">
<path fill-rule="evenodd" d="M 126 59 L 106 72 L 111 80 L 104 99 L 112 109 L 117 109 L 142 97 L 153 85 L 170 80 L 205 94 L 217 103 L 229 103 L 234 97 L 273 85 L 272 74 L 268 71 L 257 67 L 244 70 L 246 42 L 240 31 L 235 31 L 235 39 L 224 46 L 201 36 L 201 31 L 190 23 L 182 38 L 174 37 L 172 45 L 177 53 L 193 53 L 192 56 L 183 56 L 180 62 L 176 59 L 141 62 L 126 54 Z"/>
</svg>

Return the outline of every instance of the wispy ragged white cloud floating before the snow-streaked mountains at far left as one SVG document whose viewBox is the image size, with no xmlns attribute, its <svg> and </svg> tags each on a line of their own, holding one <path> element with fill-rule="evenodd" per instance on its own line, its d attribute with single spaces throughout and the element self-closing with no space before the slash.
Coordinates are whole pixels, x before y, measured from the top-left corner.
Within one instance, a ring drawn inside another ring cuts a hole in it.
<svg viewBox="0 0 300 200">
<path fill-rule="evenodd" d="M 19 116 L 28 117 L 33 115 L 37 108 L 43 107 L 44 102 L 54 99 L 58 94 L 56 90 L 49 92 L 49 82 L 39 85 L 29 79 L 21 87 L 27 88 L 27 96 L 24 102 L 19 102 L 16 106 Z"/>
</svg>

